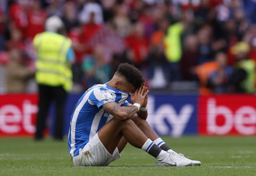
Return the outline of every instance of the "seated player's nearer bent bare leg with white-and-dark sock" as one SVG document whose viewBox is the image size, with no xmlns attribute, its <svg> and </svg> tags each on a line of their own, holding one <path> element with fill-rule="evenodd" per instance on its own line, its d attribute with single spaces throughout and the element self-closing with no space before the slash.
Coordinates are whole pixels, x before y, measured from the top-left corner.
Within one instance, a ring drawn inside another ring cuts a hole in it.
<svg viewBox="0 0 256 176">
<path fill-rule="evenodd" d="M 158 161 L 166 165 L 175 165 L 172 156 L 154 144 L 130 119 L 125 121 L 111 119 L 100 129 L 98 137 L 109 153 L 113 153 L 118 144 L 120 145 L 120 140 L 125 138 L 131 145 L 148 152 Z"/>
</svg>

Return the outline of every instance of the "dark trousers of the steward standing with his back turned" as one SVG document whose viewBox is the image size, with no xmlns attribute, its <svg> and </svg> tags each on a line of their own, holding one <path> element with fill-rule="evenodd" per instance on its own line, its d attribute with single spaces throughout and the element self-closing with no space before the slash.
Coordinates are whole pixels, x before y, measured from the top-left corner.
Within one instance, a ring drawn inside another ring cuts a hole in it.
<svg viewBox="0 0 256 176">
<path fill-rule="evenodd" d="M 36 135 L 35 139 L 43 138 L 43 131 L 46 127 L 46 117 L 48 115 L 51 102 L 55 102 L 56 120 L 54 129 L 54 138 L 63 139 L 63 119 L 64 110 L 68 93 L 62 86 L 51 87 L 39 84 L 39 111 L 36 118 Z"/>
</svg>

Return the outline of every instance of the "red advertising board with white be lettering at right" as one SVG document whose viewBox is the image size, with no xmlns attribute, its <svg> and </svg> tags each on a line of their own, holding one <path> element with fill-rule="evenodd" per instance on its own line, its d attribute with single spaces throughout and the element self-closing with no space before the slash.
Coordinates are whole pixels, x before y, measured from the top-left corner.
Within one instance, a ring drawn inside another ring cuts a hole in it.
<svg viewBox="0 0 256 176">
<path fill-rule="evenodd" d="M 201 135 L 256 135 L 256 96 L 199 96 L 197 119 Z"/>
</svg>

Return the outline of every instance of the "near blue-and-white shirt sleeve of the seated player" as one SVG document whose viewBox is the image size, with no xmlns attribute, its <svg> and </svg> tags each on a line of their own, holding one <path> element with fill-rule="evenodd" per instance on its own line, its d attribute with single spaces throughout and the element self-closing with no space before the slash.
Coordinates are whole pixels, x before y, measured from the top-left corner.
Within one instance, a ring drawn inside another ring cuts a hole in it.
<svg viewBox="0 0 256 176">
<path fill-rule="evenodd" d="M 114 102 L 112 95 L 106 89 L 96 89 L 93 91 L 89 100 L 93 102 L 98 108 L 108 102 Z"/>
</svg>

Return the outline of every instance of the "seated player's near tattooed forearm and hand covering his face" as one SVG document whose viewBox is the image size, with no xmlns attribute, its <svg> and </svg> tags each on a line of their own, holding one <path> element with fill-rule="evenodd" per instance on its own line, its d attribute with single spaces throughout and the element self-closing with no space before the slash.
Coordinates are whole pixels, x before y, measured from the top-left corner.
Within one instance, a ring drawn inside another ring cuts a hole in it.
<svg viewBox="0 0 256 176">
<path fill-rule="evenodd" d="M 145 91 L 145 86 L 140 87 L 131 96 L 131 101 L 134 103 L 143 104 L 144 99 L 148 91 Z M 119 106 L 116 102 L 108 102 L 102 106 L 106 111 L 108 111 L 112 116 L 119 120 L 126 120 L 131 118 L 136 112 L 138 112 L 138 107 L 131 106 Z"/>
</svg>

